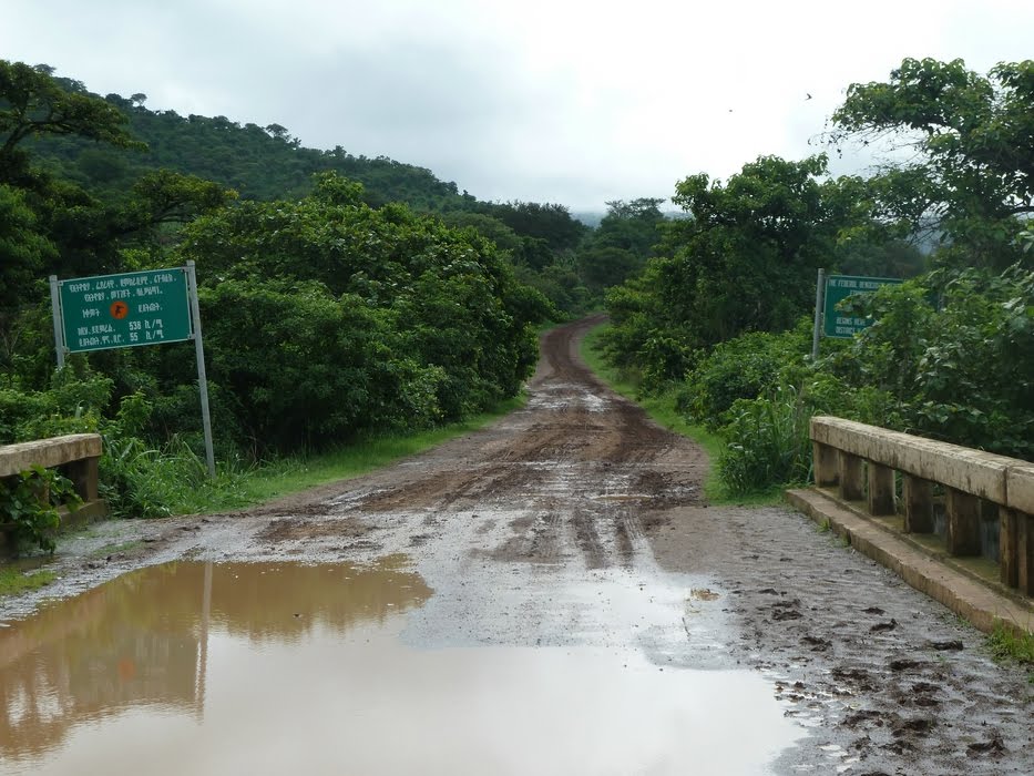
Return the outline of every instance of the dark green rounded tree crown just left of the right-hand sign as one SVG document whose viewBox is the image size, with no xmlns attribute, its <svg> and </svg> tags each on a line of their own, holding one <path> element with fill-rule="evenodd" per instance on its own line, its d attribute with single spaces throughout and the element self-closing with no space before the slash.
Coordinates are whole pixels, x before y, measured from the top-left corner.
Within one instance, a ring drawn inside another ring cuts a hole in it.
<svg viewBox="0 0 1034 776">
<path fill-rule="evenodd" d="M 672 313 L 694 347 L 747 330 L 794 324 L 813 298 L 818 267 L 829 266 L 849 213 L 838 182 L 820 182 L 825 155 L 790 162 L 762 156 L 726 183 L 692 175 L 674 201 L 690 216 L 663 243 Z"/>
</svg>

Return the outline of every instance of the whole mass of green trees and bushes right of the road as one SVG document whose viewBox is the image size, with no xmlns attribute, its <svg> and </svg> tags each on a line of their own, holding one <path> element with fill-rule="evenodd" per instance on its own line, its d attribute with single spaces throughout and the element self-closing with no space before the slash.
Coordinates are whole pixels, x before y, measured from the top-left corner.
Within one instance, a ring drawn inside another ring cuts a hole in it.
<svg viewBox="0 0 1034 776">
<path fill-rule="evenodd" d="M 904 60 L 848 88 L 826 141 L 894 154 L 867 177 L 818 154 L 677 184 L 687 217 L 607 296 L 610 358 L 726 439 L 736 493 L 808 477 L 815 412 L 1031 460 L 1034 61 Z M 908 282 L 846 303 L 872 325 L 812 361 L 819 267 Z"/>
</svg>

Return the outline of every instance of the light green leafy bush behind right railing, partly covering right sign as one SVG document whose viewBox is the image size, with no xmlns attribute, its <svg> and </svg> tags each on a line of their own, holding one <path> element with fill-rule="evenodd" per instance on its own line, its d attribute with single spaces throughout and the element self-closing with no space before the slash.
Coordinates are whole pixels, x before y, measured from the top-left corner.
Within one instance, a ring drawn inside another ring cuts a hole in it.
<svg viewBox="0 0 1034 776">
<path fill-rule="evenodd" d="M 835 375 L 892 396 L 901 430 L 1034 458 L 1034 272 L 940 272 L 853 304 L 877 321 Z"/>
</svg>

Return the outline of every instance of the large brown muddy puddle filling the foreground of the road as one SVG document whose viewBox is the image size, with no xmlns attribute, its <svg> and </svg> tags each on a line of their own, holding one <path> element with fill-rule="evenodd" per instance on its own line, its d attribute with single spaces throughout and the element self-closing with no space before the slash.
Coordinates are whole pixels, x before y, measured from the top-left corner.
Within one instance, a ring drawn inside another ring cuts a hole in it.
<svg viewBox="0 0 1034 776">
<path fill-rule="evenodd" d="M 0 627 L 3 774 L 766 774 L 802 735 L 746 671 L 405 637 L 375 565 L 176 562 Z"/>
</svg>

